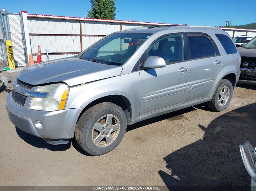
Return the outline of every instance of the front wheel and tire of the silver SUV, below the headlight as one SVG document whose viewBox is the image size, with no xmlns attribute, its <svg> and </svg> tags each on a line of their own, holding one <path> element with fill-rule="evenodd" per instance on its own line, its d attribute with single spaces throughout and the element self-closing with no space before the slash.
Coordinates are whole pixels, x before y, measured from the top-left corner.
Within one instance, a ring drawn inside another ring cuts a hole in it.
<svg viewBox="0 0 256 191">
<path fill-rule="evenodd" d="M 109 102 L 99 103 L 80 116 L 75 127 L 75 139 L 85 152 L 99 156 L 117 147 L 126 127 L 127 119 L 121 107 Z"/>
</svg>

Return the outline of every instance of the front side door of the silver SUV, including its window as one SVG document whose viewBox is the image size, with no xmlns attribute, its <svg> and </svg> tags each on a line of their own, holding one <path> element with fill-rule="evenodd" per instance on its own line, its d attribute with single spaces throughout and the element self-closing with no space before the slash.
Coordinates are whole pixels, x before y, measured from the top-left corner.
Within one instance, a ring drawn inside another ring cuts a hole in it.
<svg viewBox="0 0 256 191">
<path fill-rule="evenodd" d="M 166 66 L 140 70 L 140 115 L 182 104 L 190 72 L 189 62 L 184 61 L 182 34 L 160 38 L 146 54 L 147 58 L 163 58 Z"/>
</svg>

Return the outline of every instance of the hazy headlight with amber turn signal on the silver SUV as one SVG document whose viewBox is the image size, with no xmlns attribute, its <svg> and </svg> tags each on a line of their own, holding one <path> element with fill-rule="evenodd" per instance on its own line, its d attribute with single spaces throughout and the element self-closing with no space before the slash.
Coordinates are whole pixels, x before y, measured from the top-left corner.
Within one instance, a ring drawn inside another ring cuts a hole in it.
<svg viewBox="0 0 256 191">
<path fill-rule="evenodd" d="M 36 92 L 48 93 L 47 97 L 32 97 L 29 109 L 40 111 L 63 110 L 68 98 L 68 86 L 66 84 L 51 84 L 38 87 Z"/>
</svg>

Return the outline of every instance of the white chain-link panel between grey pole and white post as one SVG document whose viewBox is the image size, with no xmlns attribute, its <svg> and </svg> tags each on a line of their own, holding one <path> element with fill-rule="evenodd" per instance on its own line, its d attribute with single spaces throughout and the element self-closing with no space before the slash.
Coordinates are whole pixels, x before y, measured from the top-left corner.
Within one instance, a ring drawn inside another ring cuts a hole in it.
<svg viewBox="0 0 256 191">
<path fill-rule="evenodd" d="M 22 39 L 22 26 L 19 13 L 8 13 L 9 28 L 12 39 L 13 56 L 16 66 L 25 66 L 25 52 Z"/>
</svg>

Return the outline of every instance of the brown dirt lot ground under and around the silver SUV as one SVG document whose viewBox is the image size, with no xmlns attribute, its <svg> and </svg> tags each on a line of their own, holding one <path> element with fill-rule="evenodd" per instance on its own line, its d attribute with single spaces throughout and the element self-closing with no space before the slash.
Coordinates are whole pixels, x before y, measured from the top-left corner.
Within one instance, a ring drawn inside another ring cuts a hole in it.
<svg viewBox="0 0 256 191">
<path fill-rule="evenodd" d="M 12 81 L 17 73 L 4 74 Z M 229 107 L 204 104 L 128 126 L 121 144 L 93 157 L 75 140 L 48 145 L 9 121 L 0 84 L 0 185 L 249 185 L 239 145 L 256 145 L 256 83 L 239 81 Z"/>
</svg>

